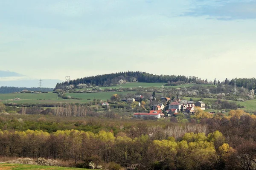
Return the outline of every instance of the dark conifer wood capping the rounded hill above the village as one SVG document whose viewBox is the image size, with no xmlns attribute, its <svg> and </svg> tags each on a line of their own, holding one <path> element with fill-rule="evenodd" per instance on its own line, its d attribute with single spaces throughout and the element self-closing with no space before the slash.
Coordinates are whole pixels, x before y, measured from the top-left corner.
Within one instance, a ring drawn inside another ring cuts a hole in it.
<svg viewBox="0 0 256 170">
<path fill-rule="evenodd" d="M 58 83 L 56 88 L 60 89 L 61 86 L 67 85 L 79 85 L 79 84 L 90 84 L 97 86 L 109 86 L 116 85 L 119 81 L 126 82 L 182 82 L 182 83 L 196 83 L 200 81 L 198 77 L 186 77 L 186 76 L 175 76 L 175 75 L 154 75 L 139 71 L 128 71 L 119 72 L 113 74 L 104 74 L 98 76 L 84 77 L 81 79 L 71 80 L 70 82 Z M 201 84 L 201 83 L 198 83 Z"/>
</svg>

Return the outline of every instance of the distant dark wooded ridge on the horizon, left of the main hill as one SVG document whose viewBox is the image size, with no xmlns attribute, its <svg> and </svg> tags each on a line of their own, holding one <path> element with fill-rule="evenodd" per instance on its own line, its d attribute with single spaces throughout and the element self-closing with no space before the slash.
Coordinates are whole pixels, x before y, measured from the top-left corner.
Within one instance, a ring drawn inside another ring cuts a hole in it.
<svg viewBox="0 0 256 170">
<path fill-rule="evenodd" d="M 15 93 L 23 90 L 47 92 L 47 91 L 53 91 L 53 88 L 16 88 L 16 87 L 2 86 L 0 87 L 0 94 Z"/>
</svg>

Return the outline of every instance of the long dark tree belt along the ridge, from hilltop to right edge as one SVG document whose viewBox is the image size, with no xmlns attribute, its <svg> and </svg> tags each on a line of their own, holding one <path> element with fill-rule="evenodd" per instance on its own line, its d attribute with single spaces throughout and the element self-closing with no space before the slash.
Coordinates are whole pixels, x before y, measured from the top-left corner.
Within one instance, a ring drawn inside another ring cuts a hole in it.
<svg viewBox="0 0 256 170">
<path fill-rule="evenodd" d="M 126 82 L 164 82 L 166 85 L 182 85 L 182 84 L 212 84 L 212 85 L 233 85 L 235 84 L 237 87 L 244 87 L 249 90 L 256 88 L 256 79 L 255 78 L 239 78 L 239 79 L 225 79 L 220 82 L 219 79 L 214 79 L 214 81 L 210 81 L 207 79 L 201 79 L 195 76 L 182 76 L 182 75 L 154 75 L 141 71 L 128 71 L 128 72 L 118 72 L 112 74 L 103 74 L 97 76 L 84 77 L 80 79 L 70 80 L 69 82 L 57 83 L 56 89 L 65 89 L 69 85 L 73 85 L 74 87 L 85 88 L 91 86 L 113 86 L 117 84 L 122 84 Z M 122 81 L 122 82 L 120 82 Z"/>
</svg>

